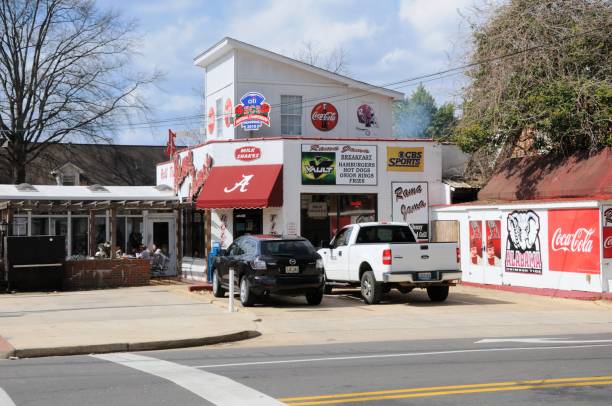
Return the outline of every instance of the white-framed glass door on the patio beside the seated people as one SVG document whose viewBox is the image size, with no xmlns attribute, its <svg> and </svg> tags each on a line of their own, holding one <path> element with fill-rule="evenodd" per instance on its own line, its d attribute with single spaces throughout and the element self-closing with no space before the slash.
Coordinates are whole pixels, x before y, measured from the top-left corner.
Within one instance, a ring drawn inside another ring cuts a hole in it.
<svg viewBox="0 0 612 406">
<path fill-rule="evenodd" d="M 155 245 L 151 255 L 153 276 L 176 276 L 176 235 L 172 219 L 149 217 L 147 247 Z"/>
</svg>

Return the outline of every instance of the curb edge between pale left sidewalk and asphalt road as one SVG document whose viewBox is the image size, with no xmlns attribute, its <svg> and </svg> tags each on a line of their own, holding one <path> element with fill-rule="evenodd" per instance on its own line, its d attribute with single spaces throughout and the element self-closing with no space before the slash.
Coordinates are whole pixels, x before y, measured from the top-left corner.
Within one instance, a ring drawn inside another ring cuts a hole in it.
<svg viewBox="0 0 612 406">
<path fill-rule="evenodd" d="M 137 343 L 110 343 L 110 344 L 93 344 L 93 345 L 78 345 L 71 347 L 41 347 L 41 348 L 26 348 L 14 349 L 6 340 L 0 336 L 0 359 L 9 358 L 11 356 L 19 358 L 38 358 L 38 357 L 53 357 L 67 355 L 89 355 L 89 354 L 104 354 L 109 352 L 130 352 L 130 351 L 154 351 L 154 350 L 170 350 L 176 348 L 200 347 L 203 345 L 213 345 L 221 343 L 229 343 L 233 341 L 241 341 L 249 338 L 259 337 L 258 331 L 243 330 L 237 333 L 223 334 L 219 336 L 200 337 L 200 338 L 185 338 L 179 340 L 164 340 L 164 341 L 145 341 Z M 10 348 L 13 348 L 12 353 L 4 352 L 3 342 L 6 342 Z"/>
</svg>

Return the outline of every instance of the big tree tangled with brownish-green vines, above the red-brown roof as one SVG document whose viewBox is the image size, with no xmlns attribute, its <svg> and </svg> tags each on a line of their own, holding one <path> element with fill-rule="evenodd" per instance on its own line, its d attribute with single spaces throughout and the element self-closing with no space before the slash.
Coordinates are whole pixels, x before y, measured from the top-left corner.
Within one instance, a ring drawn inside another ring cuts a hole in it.
<svg viewBox="0 0 612 406">
<path fill-rule="evenodd" d="M 530 129 L 544 152 L 612 146 L 611 19 L 605 0 L 512 0 L 498 7 L 474 28 L 471 61 L 489 62 L 468 73 L 454 139 L 475 151 L 512 145 Z"/>
</svg>

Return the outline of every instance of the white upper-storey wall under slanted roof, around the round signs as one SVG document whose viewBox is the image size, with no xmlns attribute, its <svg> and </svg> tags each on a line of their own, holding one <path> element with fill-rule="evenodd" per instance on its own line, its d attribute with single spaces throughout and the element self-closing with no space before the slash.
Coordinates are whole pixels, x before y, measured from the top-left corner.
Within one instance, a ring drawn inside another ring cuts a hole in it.
<svg viewBox="0 0 612 406">
<path fill-rule="evenodd" d="M 222 97 L 223 102 L 230 97 L 234 106 L 248 92 L 259 92 L 272 106 L 270 127 L 262 126 L 253 131 L 251 137 L 271 137 L 281 135 L 281 95 L 302 96 L 302 134 L 324 138 L 374 138 L 392 137 L 391 108 L 392 99 L 379 94 L 368 94 L 363 90 L 277 62 L 244 50 L 227 54 L 206 69 L 206 110 L 215 106 L 215 100 Z M 329 102 L 338 110 L 338 123 L 330 131 L 320 131 L 311 122 L 313 107 L 320 102 Z M 364 104 L 374 107 L 377 127 L 368 129 L 369 135 L 359 125 L 357 108 Z M 361 129 L 360 129 L 361 128 Z M 249 133 L 239 126 L 224 128 L 223 136 L 217 137 L 216 130 L 208 135 L 211 139 L 248 138 Z"/>
</svg>

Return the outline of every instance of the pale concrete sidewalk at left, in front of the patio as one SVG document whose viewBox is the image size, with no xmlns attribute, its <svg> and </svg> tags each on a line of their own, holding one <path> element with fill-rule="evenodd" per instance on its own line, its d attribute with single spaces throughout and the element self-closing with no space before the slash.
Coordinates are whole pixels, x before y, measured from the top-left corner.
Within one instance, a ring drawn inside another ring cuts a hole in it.
<svg viewBox="0 0 612 406">
<path fill-rule="evenodd" d="M 193 347 L 258 335 L 185 285 L 0 295 L 0 358 Z"/>
</svg>

